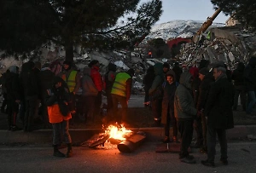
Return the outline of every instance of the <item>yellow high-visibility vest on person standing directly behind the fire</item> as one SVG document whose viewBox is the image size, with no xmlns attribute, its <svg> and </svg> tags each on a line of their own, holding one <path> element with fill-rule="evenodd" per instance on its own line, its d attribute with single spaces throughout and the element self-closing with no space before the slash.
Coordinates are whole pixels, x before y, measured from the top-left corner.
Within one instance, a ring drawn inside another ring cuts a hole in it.
<svg viewBox="0 0 256 173">
<path fill-rule="evenodd" d="M 128 78 L 131 78 L 131 76 L 126 72 L 120 72 L 117 74 L 113 82 L 111 94 L 126 97 L 126 81 Z"/>
</svg>

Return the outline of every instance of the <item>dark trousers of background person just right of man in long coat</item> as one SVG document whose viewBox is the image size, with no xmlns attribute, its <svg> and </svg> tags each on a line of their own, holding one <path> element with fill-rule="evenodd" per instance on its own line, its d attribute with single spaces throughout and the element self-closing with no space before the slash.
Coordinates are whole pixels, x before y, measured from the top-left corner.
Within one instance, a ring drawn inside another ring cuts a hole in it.
<svg viewBox="0 0 256 173">
<path fill-rule="evenodd" d="M 234 106 L 233 109 L 236 110 L 237 105 L 238 105 L 238 98 L 240 95 L 240 101 L 241 101 L 241 106 L 242 110 L 246 111 L 246 105 L 247 105 L 247 92 L 245 90 L 245 86 L 235 86 L 236 92 L 234 95 Z"/>
</svg>

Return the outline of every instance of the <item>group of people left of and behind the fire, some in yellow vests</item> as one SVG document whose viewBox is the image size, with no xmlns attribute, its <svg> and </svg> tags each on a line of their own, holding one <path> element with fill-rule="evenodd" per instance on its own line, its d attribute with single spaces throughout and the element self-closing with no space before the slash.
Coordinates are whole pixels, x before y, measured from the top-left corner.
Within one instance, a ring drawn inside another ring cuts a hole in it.
<svg viewBox="0 0 256 173">
<path fill-rule="evenodd" d="M 1 111 L 8 114 L 8 130 L 20 130 L 16 126 L 17 118 L 20 118 L 24 132 L 38 130 L 35 121 L 40 119 L 46 128 L 53 129 L 53 155 L 56 157 L 72 155 L 68 129 L 69 120 L 78 111 L 76 94 L 79 89 L 82 90 L 79 101 L 83 105 L 79 111 L 85 118 L 93 121 L 99 115 L 104 90 L 108 98 L 108 120 L 123 124 L 127 120 L 134 70 L 116 73 L 116 66 L 109 63 L 103 78 L 99 61 L 90 61 L 83 72 L 73 66 L 73 62 L 63 61 L 62 71 L 55 74 L 47 63 L 41 67 L 39 61 L 28 61 L 21 66 L 21 71 L 18 66 L 9 66 L 1 77 L 4 97 Z M 120 115 L 119 103 L 122 107 Z M 58 150 L 61 136 L 67 143 L 67 154 Z"/>
</svg>

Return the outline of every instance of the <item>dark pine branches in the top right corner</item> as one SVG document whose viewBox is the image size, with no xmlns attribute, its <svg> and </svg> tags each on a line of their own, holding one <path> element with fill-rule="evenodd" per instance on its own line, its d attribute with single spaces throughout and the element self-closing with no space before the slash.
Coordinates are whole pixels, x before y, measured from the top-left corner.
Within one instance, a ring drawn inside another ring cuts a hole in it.
<svg viewBox="0 0 256 173">
<path fill-rule="evenodd" d="M 256 29 L 256 2 L 252 0 L 211 0 L 224 14 L 230 14 L 246 28 Z"/>
</svg>

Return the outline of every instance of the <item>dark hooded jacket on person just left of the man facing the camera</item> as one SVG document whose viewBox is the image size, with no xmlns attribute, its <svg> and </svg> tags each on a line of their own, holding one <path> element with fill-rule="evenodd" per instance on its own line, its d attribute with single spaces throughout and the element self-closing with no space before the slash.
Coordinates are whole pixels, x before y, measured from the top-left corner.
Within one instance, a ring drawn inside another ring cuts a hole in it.
<svg viewBox="0 0 256 173">
<path fill-rule="evenodd" d="M 163 65 L 161 63 L 156 63 L 154 65 L 154 75 L 155 76 L 154 76 L 153 84 L 148 90 L 150 97 L 153 97 L 154 93 L 158 92 L 158 90 L 162 88 L 162 84 L 164 82 Z"/>
</svg>

